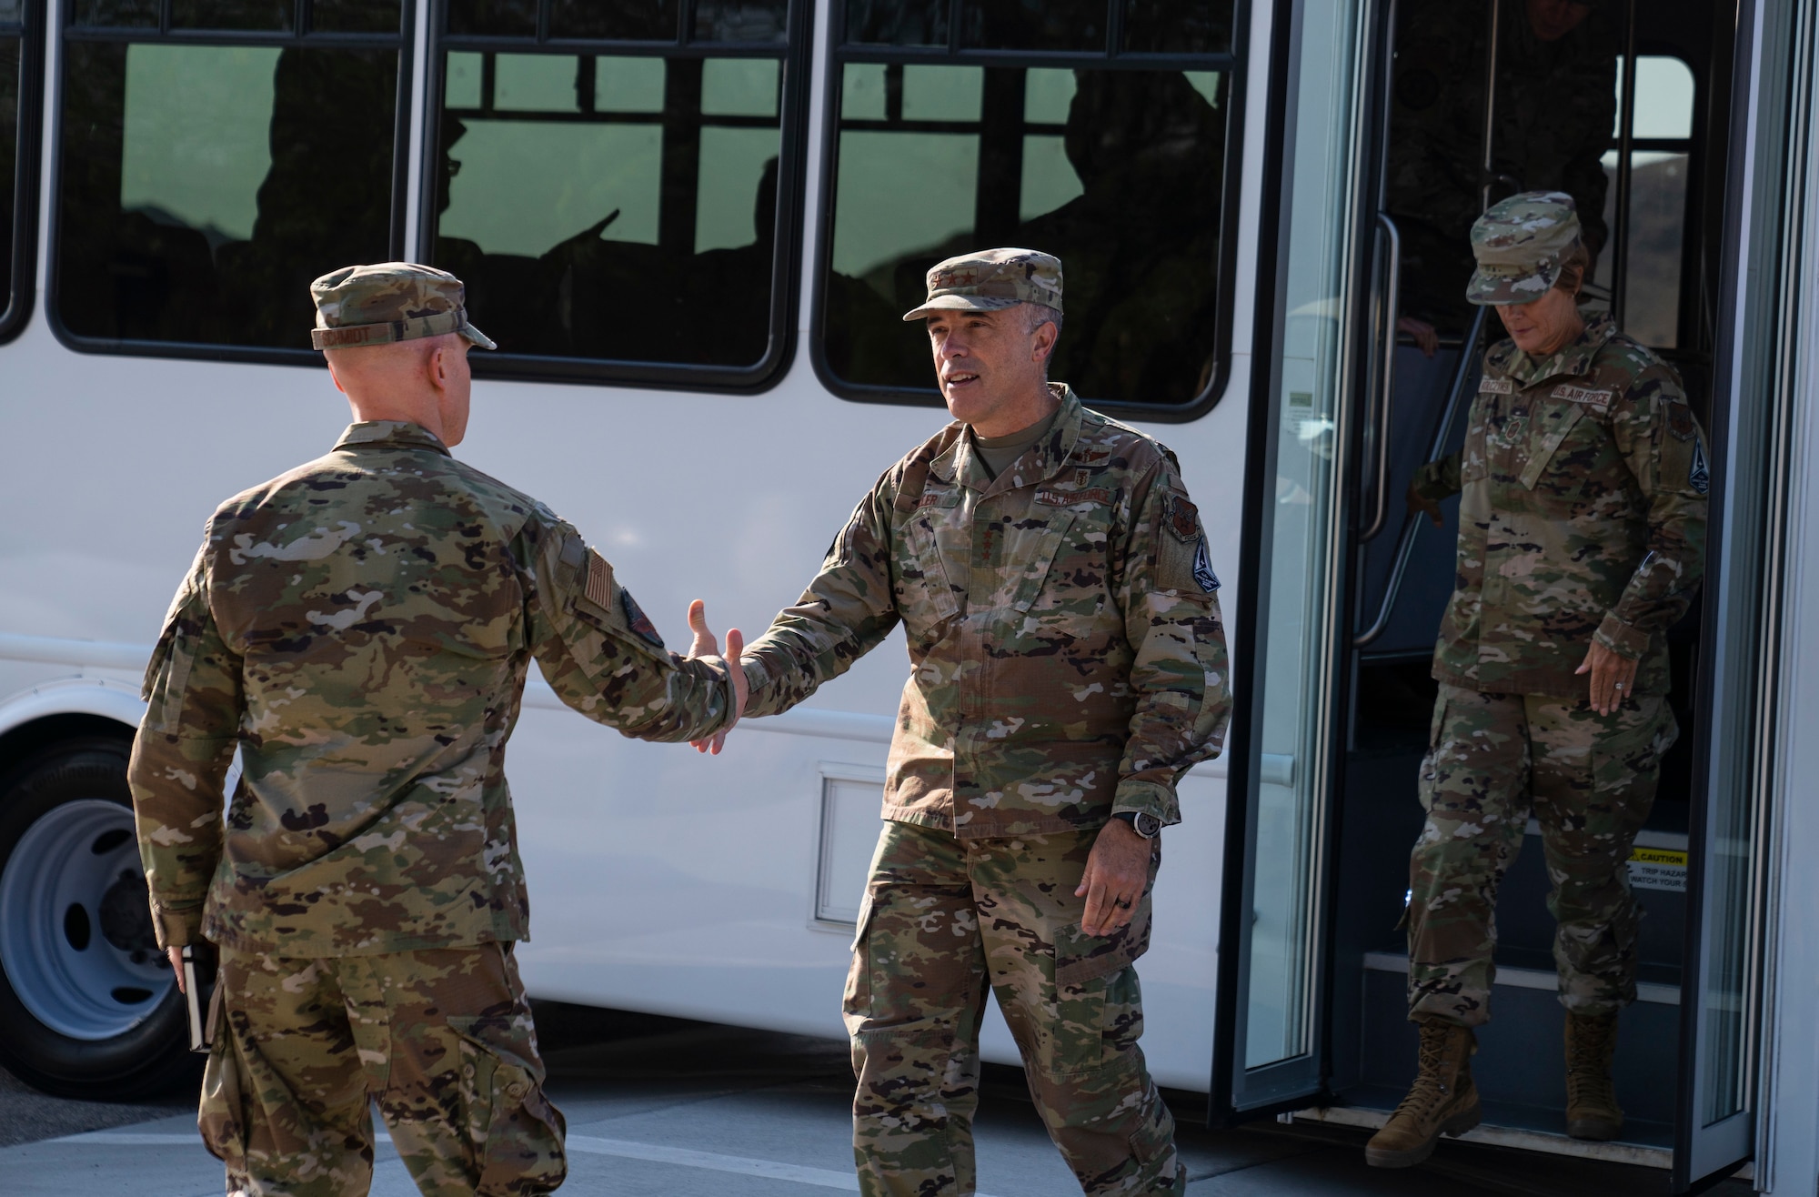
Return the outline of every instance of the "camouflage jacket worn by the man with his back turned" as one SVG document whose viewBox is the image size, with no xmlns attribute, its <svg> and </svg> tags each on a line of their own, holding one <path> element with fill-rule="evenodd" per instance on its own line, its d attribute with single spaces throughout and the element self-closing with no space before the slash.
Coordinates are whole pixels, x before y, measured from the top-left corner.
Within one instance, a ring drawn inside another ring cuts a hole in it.
<svg viewBox="0 0 1819 1197">
<path fill-rule="evenodd" d="M 526 939 L 504 757 L 531 657 L 626 735 L 686 740 L 731 709 L 726 662 L 664 651 L 573 528 L 415 424 L 355 424 L 222 504 L 133 746 L 160 946 Z"/>
</svg>

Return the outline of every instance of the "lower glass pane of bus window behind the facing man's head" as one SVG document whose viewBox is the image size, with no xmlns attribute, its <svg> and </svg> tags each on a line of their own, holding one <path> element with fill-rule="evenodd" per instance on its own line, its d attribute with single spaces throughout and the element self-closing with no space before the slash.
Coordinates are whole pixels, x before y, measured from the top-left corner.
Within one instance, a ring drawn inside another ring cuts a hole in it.
<svg viewBox="0 0 1819 1197">
<path fill-rule="evenodd" d="M 1211 71 L 848 62 L 826 353 L 857 384 L 928 387 L 900 317 L 924 273 L 980 246 L 1060 256 L 1053 377 L 1084 397 L 1186 404 L 1211 380 L 1224 107 Z"/>
</svg>

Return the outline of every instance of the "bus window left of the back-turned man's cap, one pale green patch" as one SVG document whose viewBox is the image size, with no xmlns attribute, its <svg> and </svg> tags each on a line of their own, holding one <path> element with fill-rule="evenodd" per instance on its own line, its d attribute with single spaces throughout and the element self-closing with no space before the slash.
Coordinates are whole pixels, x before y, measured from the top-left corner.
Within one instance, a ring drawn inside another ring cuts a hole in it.
<svg viewBox="0 0 1819 1197">
<path fill-rule="evenodd" d="M 53 315 L 84 349 L 302 357 L 309 280 L 397 256 L 400 7 L 162 4 L 64 29 Z"/>
</svg>

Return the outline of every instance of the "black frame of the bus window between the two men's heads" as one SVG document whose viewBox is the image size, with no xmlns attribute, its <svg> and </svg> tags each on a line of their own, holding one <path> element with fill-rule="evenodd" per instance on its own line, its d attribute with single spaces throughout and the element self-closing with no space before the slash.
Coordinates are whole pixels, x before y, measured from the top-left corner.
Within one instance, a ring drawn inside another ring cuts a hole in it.
<svg viewBox="0 0 1819 1197">
<path fill-rule="evenodd" d="M 782 64 L 782 93 L 777 124 L 777 236 L 771 256 L 769 344 L 753 366 L 700 366 L 689 362 L 648 362 L 628 358 L 575 358 L 537 353 L 477 353 L 473 373 L 482 378 L 518 382 L 586 382 L 637 389 L 717 391 L 757 395 L 769 391 L 789 373 L 797 342 L 797 300 L 802 262 L 802 167 L 809 107 L 809 44 L 815 9 L 811 0 L 788 0 L 782 53 L 775 42 L 709 42 L 691 33 L 695 0 L 677 4 L 673 42 L 629 42 L 622 38 L 548 36 L 546 5 L 538 4 L 537 36 L 451 35 L 449 0 L 431 0 L 431 27 L 424 38 L 424 140 L 422 160 L 415 164 L 422 187 L 417 209 L 417 260 L 431 262 L 435 244 L 438 158 L 442 155 L 444 62 L 449 51 L 471 53 L 549 53 L 618 55 L 628 58 L 766 58 Z M 431 262 L 433 264 L 433 262 Z"/>
</svg>

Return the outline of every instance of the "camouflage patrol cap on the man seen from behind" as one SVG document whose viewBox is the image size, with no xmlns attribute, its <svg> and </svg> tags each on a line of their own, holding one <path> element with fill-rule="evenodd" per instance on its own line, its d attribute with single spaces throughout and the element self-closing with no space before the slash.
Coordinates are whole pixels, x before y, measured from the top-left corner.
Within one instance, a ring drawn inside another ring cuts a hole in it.
<svg viewBox="0 0 1819 1197">
<path fill-rule="evenodd" d="M 482 349 L 497 349 L 491 337 L 467 324 L 466 297 L 460 278 L 433 266 L 344 266 L 309 284 L 317 302 L 309 344 L 347 349 L 460 333 Z"/>
</svg>

